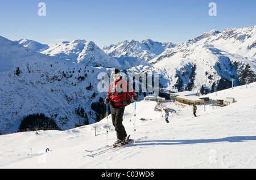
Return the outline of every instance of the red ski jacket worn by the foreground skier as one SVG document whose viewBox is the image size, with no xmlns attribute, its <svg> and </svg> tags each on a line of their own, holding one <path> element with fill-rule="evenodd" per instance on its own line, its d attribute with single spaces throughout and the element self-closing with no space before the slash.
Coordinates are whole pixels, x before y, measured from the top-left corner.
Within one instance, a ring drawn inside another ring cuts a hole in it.
<svg viewBox="0 0 256 180">
<path fill-rule="evenodd" d="M 130 97 L 133 98 L 133 96 L 135 95 L 133 89 L 129 89 L 128 87 L 129 84 L 125 82 L 122 77 L 119 81 L 112 82 L 109 85 L 109 91 L 106 97 L 110 100 L 110 104 L 114 106 L 126 106 L 127 101 L 129 101 Z M 130 97 L 127 94 L 129 94 Z"/>
</svg>

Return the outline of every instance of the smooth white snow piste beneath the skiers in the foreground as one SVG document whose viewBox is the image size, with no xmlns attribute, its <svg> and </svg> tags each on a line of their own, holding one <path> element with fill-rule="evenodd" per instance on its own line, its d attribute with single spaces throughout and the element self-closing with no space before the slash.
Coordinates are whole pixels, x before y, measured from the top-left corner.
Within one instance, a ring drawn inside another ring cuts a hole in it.
<svg viewBox="0 0 256 180">
<path fill-rule="evenodd" d="M 0 168 L 256 168 L 255 92 L 256 83 L 251 83 L 206 95 L 213 100 L 234 97 L 236 102 L 217 109 L 207 104 L 206 111 L 198 105 L 200 116 L 195 118 L 192 106 L 164 103 L 179 114 L 170 114 L 170 123 L 154 111 L 156 102 L 138 101 L 135 138 L 130 104 L 123 125 L 135 146 L 105 150 L 106 118 L 66 131 L 1 135 Z M 116 135 L 110 115 L 108 125 L 112 145 Z"/>
</svg>

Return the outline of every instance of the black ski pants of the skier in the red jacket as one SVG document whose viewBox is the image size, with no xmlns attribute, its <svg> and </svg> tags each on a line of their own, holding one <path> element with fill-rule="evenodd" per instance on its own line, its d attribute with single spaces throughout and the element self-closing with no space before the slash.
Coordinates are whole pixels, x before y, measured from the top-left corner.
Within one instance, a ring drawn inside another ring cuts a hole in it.
<svg viewBox="0 0 256 180">
<path fill-rule="evenodd" d="M 111 117 L 112 123 L 117 131 L 117 139 L 124 140 L 127 136 L 125 127 L 123 126 L 123 113 L 125 112 L 125 107 L 123 106 L 111 106 Z"/>
</svg>

